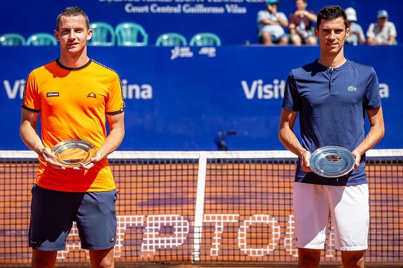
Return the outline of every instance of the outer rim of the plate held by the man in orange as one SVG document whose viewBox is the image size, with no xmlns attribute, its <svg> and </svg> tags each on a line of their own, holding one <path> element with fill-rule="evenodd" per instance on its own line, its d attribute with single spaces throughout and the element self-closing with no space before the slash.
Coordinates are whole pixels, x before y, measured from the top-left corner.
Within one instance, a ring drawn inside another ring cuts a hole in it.
<svg viewBox="0 0 403 268">
<path fill-rule="evenodd" d="M 61 159 L 60 154 L 69 149 L 80 149 L 86 152 L 85 157 L 80 161 L 73 161 L 73 162 L 69 162 L 68 160 L 70 159 Z M 57 143 L 55 146 L 53 146 L 51 152 L 56 155 L 54 159 L 56 162 L 59 162 L 66 167 L 75 167 L 80 166 L 81 164 L 88 164 L 89 162 L 91 162 L 91 158 L 94 157 L 96 150 L 94 145 L 88 141 L 80 139 L 71 139 Z"/>
</svg>

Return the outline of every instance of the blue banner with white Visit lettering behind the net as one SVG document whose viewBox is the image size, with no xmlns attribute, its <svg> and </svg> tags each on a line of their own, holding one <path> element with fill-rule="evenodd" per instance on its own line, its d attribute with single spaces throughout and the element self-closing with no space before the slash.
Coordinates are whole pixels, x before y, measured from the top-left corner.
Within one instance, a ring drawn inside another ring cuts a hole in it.
<svg viewBox="0 0 403 268">
<path fill-rule="evenodd" d="M 403 148 L 401 46 L 349 46 L 346 56 L 372 65 L 380 83 L 386 134 L 376 148 Z M 0 47 L 1 150 L 25 150 L 19 136 L 28 73 L 58 47 Z M 119 150 L 283 150 L 277 138 L 285 79 L 319 47 L 90 47 L 115 69 L 126 104 Z M 225 133 L 223 133 L 225 132 Z M 236 132 L 236 134 L 235 134 Z"/>
</svg>

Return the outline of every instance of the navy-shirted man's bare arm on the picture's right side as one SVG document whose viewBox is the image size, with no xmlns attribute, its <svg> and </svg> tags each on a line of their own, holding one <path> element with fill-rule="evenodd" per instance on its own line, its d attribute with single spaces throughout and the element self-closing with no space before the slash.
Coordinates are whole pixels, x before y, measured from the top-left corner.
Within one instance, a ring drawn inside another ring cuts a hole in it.
<svg viewBox="0 0 403 268">
<path fill-rule="evenodd" d="M 355 157 L 355 166 L 358 167 L 361 160 L 361 155 L 366 151 L 374 147 L 385 134 L 385 125 L 383 122 L 382 107 L 378 107 L 372 110 L 367 110 L 368 120 L 370 124 L 370 129 L 368 134 L 365 136 L 364 140 L 353 150 L 353 155 Z"/>
</svg>

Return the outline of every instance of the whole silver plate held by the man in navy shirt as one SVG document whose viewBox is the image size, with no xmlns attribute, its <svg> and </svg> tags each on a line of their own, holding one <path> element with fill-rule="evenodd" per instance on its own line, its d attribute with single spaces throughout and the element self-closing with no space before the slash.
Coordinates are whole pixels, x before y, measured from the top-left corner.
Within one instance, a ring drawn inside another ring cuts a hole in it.
<svg viewBox="0 0 403 268">
<path fill-rule="evenodd" d="M 354 155 L 340 146 L 324 146 L 316 149 L 309 160 L 311 169 L 323 177 L 340 177 L 354 167 Z"/>
</svg>

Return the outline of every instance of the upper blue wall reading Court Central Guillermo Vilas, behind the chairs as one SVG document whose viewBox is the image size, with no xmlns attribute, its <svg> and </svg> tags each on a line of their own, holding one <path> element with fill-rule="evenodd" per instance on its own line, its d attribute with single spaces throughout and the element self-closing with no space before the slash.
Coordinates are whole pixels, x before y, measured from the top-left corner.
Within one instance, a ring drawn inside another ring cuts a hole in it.
<svg viewBox="0 0 403 268">
<path fill-rule="evenodd" d="M 397 28 L 397 40 L 403 25 L 403 6 L 395 0 L 308 0 L 308 10 L 317 12 L 326 5 L 353 7 L 364 32 L 376 22 L 376 13 L 385 9 Z M 159 35 L 182 34 L 187 42 L 200 32 L 217 34 L 223 45 L 257 43 L 257 13 L 265 9 L 265 0 L 13 0 L 0 1 L 0 34 L 19 33 L 25 38 L 38 32 L 53 33 L 56 17 L 69 6 L 81 7 L 90 22 L 105 22 L 115 28 L 122 22 L 140 24 L 153 46 Z M 294 0 L 280 0 L 279 12 L 287 17 L 295 11 Z M 7 27 L 6 27 L 7 26 Z M 286 29 L 287 30 L 287 29 Z"/>
</svg>

